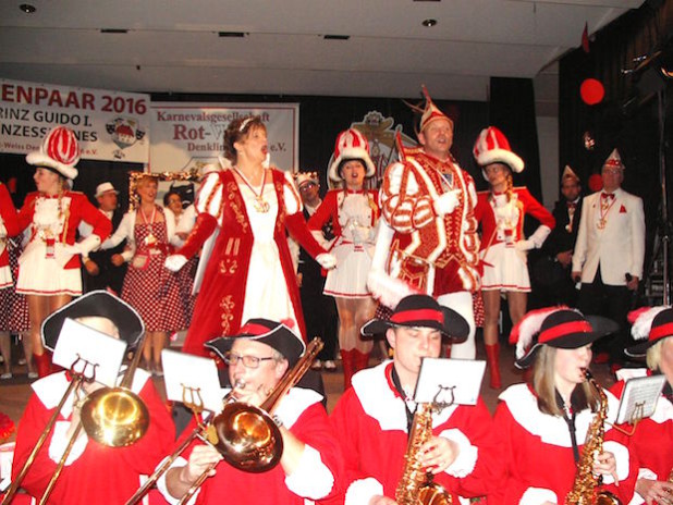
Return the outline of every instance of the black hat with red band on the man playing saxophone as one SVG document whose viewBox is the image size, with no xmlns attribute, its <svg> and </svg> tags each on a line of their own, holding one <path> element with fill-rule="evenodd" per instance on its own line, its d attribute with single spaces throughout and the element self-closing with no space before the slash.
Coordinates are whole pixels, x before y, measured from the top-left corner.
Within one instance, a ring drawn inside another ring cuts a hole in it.
<svg viewBox="0 0 673 505">
<path fill-rule="evenodd" d="M 431 328 L 455 343 L 465 342 L 469 324 L 463 316 L 449 307 L 439 305 L 428 295 L 409 295 L 402 298 L 389 320 L 372 319 L 360 329 L 363 336 L 372 337 L 386 333 L 389 328 Z"/>
</svg>

